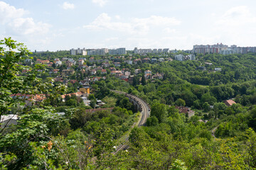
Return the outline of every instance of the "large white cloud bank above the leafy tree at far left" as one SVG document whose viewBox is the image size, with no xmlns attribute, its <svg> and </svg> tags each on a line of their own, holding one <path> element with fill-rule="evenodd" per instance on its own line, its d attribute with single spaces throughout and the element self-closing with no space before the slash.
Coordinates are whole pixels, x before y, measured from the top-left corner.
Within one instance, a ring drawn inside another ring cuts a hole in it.
<svg viewBox="0 0 256 170">
<path fill-rule="evenodd" d="M 12 37 L 33 47 L 43 47 L 50 40 L 47 34 L 50 24 L 35 21 L 26 16 L 28 13 L 23 8 L 15 8 L 0 1 L 1 35 Z"/>
</svg>

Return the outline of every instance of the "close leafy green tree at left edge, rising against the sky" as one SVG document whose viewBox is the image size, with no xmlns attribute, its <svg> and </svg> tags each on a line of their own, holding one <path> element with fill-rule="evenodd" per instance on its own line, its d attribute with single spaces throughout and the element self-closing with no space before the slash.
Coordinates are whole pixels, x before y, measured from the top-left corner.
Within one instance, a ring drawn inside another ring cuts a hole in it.
<svg viewBox="0 0 256 170">
<path fill-rule="evenodd" d="M 28 59 L 30 53 L 22 43 L 16 43 L 11 38 L 0 40 L 0 116 L 10 113 L 11 106 L 24 105 L 24 98 L 16 97 L 19 93 L 28 94 L 33 87 L 28 81 L 35 81 L 34 75 L 28 77 L 18 77 L 24 67 L 18 62 Z M 6 50 L 6 48 L 8 50 Z M 13 97 L 11 97 L 13 95 Z"/>
</svg>

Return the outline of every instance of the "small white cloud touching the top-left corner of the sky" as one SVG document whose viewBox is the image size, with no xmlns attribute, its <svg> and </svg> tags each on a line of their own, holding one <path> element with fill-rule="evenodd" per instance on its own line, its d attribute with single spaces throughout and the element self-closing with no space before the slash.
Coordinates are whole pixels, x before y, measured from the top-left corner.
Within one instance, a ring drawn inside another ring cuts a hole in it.
<svg viewBox="0 0 256 170">
<path fill-rule="evenodd" d="M 15 8 L 6 4 L 4 1 L 0 1 L 0 23 L 8 23 L 11 19 L 20 18 L 21 16 L 27 14 L 23 8 Z"/>
</svg>

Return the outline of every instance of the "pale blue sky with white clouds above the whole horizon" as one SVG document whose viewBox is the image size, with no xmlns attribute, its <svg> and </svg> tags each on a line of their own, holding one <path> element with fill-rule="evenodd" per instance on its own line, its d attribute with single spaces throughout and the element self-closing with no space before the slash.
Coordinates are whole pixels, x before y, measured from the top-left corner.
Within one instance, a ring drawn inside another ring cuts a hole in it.
<svg viewBox="0 0 256 170">
<path fill-rule="evenodd" d="M 256 46 L 255 0 L 0 0 L 0 40 L 29 50 Z"/>
</svg>

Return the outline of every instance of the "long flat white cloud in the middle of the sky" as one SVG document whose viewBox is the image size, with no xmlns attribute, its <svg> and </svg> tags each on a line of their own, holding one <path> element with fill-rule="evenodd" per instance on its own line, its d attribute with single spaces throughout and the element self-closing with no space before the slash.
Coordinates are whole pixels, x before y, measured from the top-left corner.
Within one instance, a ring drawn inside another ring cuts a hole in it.
<svg viewBox="0 0 256 170">
<path fill-rule="evenodd" d="M 161 28 L 163 26 L 178 26 L 181 21 L 176 18 L 150 16 L 148 18 L 131 18 L 129 22 L 116 22 L 107 13 L 102 13 L 95 21 L 89 25 L 83 26 L 91 30 L 115 30 L 130 34 L 146 35 L 151 28 Z"/>
</svg>

